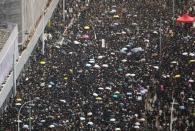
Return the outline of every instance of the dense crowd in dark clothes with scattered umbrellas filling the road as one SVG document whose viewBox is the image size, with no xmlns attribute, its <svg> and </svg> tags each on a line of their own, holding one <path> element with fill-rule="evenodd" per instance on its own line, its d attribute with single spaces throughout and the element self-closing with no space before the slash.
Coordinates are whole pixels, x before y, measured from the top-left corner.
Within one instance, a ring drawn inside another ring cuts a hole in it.
<svg viewBox="0 0 195 131">
<path fill-rule="evenodd" d="M 173 24 L 169 0 L 66 4 L 74 24 L 67 29 L 59 5 L 45 54 L 38 43 L 0 130 L 17 130 L 29 100 L 21 130 L 195 130 L 194 29 Z M 180 6 L 176 17 L 188 12 L 187 2 Z"/>
</svg>

